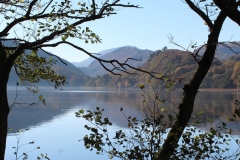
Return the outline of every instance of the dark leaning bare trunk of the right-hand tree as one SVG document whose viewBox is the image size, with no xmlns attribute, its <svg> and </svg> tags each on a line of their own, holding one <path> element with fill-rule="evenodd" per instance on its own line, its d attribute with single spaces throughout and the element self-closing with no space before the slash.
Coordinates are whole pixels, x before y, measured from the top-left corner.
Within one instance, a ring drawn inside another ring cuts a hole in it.
<svg viewBox="0 0 240 160">
<path fill-rule="evenodd" d="M 213 28 L 211 28 L 211 33 L 208 36 L 208 42 L 206 45 L 206 51 L 202 59 L 199 61 L 197 71 L 194 74 L 193 78 L 188 84 L 183 87 L 183 98 L 182 102 L 178 106 L 179 113 L 177 115 L 176 121 L 169 131 L 162 149 L 157 153 L 155 160 L 171 159 L 171 156 L 174 154 L 175 149 L 178 147 L 178 141 L 181 138 L 181 135 L 191 118 L 198 89 L 212 64 L 218 43 L 218 37 L 225 18 L 225 13 L 220 12 L 218 18 L 215 20 Z"/>
</svg>

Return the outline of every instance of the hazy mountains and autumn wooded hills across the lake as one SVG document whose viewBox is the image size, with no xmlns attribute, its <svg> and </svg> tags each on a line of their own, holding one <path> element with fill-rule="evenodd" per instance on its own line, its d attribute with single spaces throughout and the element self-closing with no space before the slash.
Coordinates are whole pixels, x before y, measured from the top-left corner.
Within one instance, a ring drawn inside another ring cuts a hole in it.
<svg viewBox="0 0 240 160">
<path fill-rule="evenodd" d="M 238 45 L 228 43 L 226 43 L 226 45 L 233 47 L 233 50 L 235 52 L 240 51 L 240 47 Z M 189 56 L 189 53 L 171 49 L 166 50 L 166 52 L 165 50 L 163 51 L 164 52 L 162 52 L 161 50 L 153 52 L 147 49 L 138 49 L 134 46 L 124 46 L 99 52 L 99 54 L 101 54 L 99 55 L 99 57 L 106 60 L 117 59 L 120 62 L 126 61 L 127 58 L 135 58 L 139 60 L 141 59 L 142 61 L 129 60 L 129 64 L 133 65 L 134 67 L 141 67 L 144 70 L 158 72 L 172 71 L 178 76 L 180 76 L 180 74 L 191 74 L 191 72 L 197 67 L 193 58 Z M 46 58 L 53 57 L 54 59 L 57 59 L 57 57 L 46 54 L 43 51 L 38 51 L 38 55 Z M 236 55 L 236 53 L 233 53 L 231 49 L 229 49 L 229 47 L 225 47 L 223 45 L 218 46 L 217 56 L 220 58 L 214 62 L 212 70 L 209 71 L 211 75 L 206 77 L 208 81 L 204 81 L 203 86 L 220 88 L 235 87 L 235 84 L 237 83 L 235 79 L 238 76 L 238 73 L 240 77 L 240 62 L 239 67 L 235 66 L 240 60 L 239 56 Z M 66 62 L 67 65 L 61 63 L 58 60 L 58 62 L 53 65 L 52 69 L 58 74 L 66 76 L 68 82 L 67 86 L 119 87 L 120 85 L 125 87 L 136 87 L 137 83 L 143 82 L 147 78 L 147 75 L 145 74 L 141 74 L 141 76 L 129 76 L 125 74 L 122 74 L 123 76 L 121 77 L 113 76 L 109 74 L 99 64 L 98 61 L 92 58 L 89 58 L 79 63 L 74 63 L 75 65 L 80 64 L 85 67 L 75 67 L 70 62 L 64 59 L 62 60 Z M 106 64 L 106 67 L 111 69 L 110 64 Z M 228 78 L 228 80 L 222 77 L 226 77 Z M 15 85 L 17 81 L 18 76 L 16 75 L 14 70 L 12 70 L 9 84 Z M 213 81 L 218 81 L 218 85 L 215 84 Z M 41 82 L 40 85 L 47 85 L 47 83 Z"/>
</svg>

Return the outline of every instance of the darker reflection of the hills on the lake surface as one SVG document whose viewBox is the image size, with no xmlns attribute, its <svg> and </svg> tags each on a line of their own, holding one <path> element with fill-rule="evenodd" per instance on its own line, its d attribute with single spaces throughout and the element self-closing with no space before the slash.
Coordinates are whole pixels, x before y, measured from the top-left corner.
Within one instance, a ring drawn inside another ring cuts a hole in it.
<svg viewBox="0 0 240 160">
<path fill-rule="evenodd" d="M 37 126 L 43 122 L 51 121 L 54 117 L 66 113 L 73 108 L 94 110 L 96 107 L 105 109 L 105 116 L 117 125 L 126 126 L 126 120 L 119 109 L 122 107 L 124 113 L 132 117 L 141 118 L 143 107 L 142 92 L 139 90 L 88 90 L 79 91 L 76 88 L 56 91 L 52 89 L 42 89 L 40 92 L 46 99 L 47 105 L 39 104 L 29 108 L 15 106 L 9 116 L 9 126 L 14 129 Z M 15 97 L 15 91 L 9 90 L 9 103 Z M 203 122 L 208 119 L 221 118 L 226 120 L 232 116 L 236 107 L 235 100 L 240 99 L 239 94 L 227 93 L 198 93 L 195 101 L 194 113 L 204 111 Z M 174 92 L 168 100 L 177 104 L 181 101 L 181 92 Z M 20 90 L 19 102 L 30 103 L 37 101 L 37 96 L 25 90 Z M 173 105 L 165 103 L 165 106 Z M 74 116 L 74 115 L 73 115 Z"/>
</svg>

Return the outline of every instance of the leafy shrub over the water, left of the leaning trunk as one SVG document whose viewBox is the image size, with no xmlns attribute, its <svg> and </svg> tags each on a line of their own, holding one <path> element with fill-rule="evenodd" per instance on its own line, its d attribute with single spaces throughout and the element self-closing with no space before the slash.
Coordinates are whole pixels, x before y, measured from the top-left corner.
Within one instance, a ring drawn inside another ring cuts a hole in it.
<svg viewBox="0 0 240 160">
<path fill-rule="evenodd" d="M 139 87 L 144 90 L 145 86 L 139 84 Z M 90 135 L 83 138 L 85 147 L 90 150 L 96 149 L 97 154 L 108 153 L 109 158 L 154 159 L 164 142 L 163 137 L 167 133 L 167 128 L 174 120 L 174 113 L 163 107 L 165 100 L 160 98 L 160 91 L 153 92 L 156 95 L 147 92 L 142 95 L 144 110 L 141 120 L 126 116 L 123 108 L 120 108 L 129 129 L 116 131 L 114 137 L 110 137 L 108 130 L 112 123 L 102 115 L 104 109 L 97 107 L 96 111 L 88 110 L 86 114 L 84 110 L 76 112 L 77 117 L 82 117 L 91 123 L 85 125 L 85 128 L 91 131 Z"/>
</svg>

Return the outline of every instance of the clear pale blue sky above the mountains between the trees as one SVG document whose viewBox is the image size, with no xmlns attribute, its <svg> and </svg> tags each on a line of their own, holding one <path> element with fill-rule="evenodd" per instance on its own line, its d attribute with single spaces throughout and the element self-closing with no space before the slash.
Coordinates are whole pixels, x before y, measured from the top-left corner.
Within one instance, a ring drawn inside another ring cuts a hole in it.
<svg viewBox="0 0 240 160">
<path fill-rule="evenodd" d="M 102 43 L 85 44 L 79 40 L 71 42 L 91 53 L 125 45 L 140 49 L 158 50 L 164 46 L 178 48 L 169 43 L 171 34 L 180 45 L 187 47 L 191 41 L 198 45 L 207 41 L 208 27 L 204 21 L 181 0 L 129 0 L 142 9 L 123 8 L 117 15 L 85 24 L 98 34 Z M 128 2 L 123 0 L 123 2 Z M 227 19 L 220 41 L 239 41 L 240 27 Z M 81 62 L 88 58 L 84 53 L 70 46 L 62 45 L 46 50 L 70 61 Z"/>
</svg>

